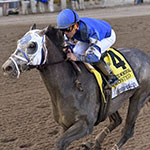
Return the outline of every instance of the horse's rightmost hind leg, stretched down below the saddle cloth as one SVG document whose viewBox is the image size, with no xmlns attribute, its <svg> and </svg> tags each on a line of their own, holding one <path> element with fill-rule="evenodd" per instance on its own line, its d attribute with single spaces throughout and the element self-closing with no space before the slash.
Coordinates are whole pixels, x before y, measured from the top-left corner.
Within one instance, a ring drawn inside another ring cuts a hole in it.
<svg viewBox="0 0 150 150">
<path fill-rule="evenodd" d="M 120 139 L 119 143 L 114 146 L 117 149 L 120 149 L 127 142 L 127 140 L 133 136 L 135 121 L 137 119 L 137 116 L 140 112 L 141 107 L 143 106 L 145 98 L 147 97 L 146 95 L 147 94 L 144 92 L 143 94 L 139 92 L 130 98 L 126 124 L 123 129 L 123 136 Z M 112 150 L 114 150 L 114 147 Z"/>
</svg>

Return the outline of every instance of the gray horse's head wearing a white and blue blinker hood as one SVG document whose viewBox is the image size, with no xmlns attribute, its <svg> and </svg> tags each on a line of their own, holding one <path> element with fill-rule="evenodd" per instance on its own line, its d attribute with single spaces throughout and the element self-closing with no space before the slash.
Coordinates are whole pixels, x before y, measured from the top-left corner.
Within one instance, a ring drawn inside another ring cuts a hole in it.
<svg viewBox="0 0 150 150">
<path fill-rule="evenodd" d="M 37 30 L 33 25 L 30 31 L 18 40 L 15 52 L 2 66 L 5 75 L 19 78 L 20 73 L 29 70 L 30 66 L 37 66 L 46 61 L 45 31 L 46 29 Z"/>
</svg>

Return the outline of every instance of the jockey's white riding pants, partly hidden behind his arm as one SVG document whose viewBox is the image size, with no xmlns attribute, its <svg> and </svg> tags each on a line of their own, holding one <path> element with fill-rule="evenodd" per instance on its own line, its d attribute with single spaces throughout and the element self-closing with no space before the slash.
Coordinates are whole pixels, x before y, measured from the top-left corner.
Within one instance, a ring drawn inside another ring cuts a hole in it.
<svg viewBox="0 0 150 150">
<path fill-rule="evenodd" d="M 93 38 L 91 38 L 90 40 L 91 40 L 91 43 L 94 43 L 100 47 L 101 54 L 103 54 L 108 48 L 110 48 L 115 43 L 116 34 L 115 34 L 114 30 L 112 29 L 110 37 L 105 38 L 101 41 L 97 41 L 96 39 L 93 39 Z M 73 48 L 74 54 L 75 55 L 84 55 L 85 52 L 88 50 L 90 44 L 78 41 L 76 43 L 75 47 Z M 100 53 L 100 52 L 97 50 L 97 53 Z M 101 54 L 100 54 L 100 56 L 101 56 Z"/>
</svg>

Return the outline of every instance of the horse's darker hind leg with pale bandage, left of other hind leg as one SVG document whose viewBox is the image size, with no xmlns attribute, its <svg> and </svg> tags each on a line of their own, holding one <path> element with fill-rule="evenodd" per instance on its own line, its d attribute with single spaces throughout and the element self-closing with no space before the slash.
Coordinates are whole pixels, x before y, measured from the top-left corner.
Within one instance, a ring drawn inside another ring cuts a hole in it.
<svg viewBox="0 0 150 150">
<path fill-rule="evenodd" d="M 103 131 L 96 136 L 96 142 L 94 146 L 95 150 L 100 150 L 101 143 L 104 141 L 104 138 L 122 123 L 122 118 L 120 117 L 118 111 L 109 116 L 109 120 L 110 125 L 108 127 L 105 127 Z"/>
</svg>

